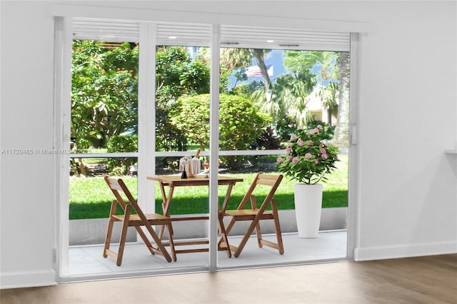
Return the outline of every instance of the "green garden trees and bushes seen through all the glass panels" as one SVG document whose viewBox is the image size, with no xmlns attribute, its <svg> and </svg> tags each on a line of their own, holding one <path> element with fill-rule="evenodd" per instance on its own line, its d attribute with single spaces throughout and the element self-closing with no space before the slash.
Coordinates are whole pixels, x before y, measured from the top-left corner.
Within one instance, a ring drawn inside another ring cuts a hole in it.
<svg viewBox="0 0 457 304">
<path fill-rule="evenodd" d="M 332 117 L 338 115 L 338 136 L 333 140 L 347 146 L 348 56 L 283 51 L 286 72 L 271 79 L 265 64 L 270 53 L 268 49 L 221 49 L 221 148 L 279 148 L 279 141 L 297 126 L 315 121 L 308 108 L 312 95 L 319 96 L 328 109 L 329 131 L 334 129 Z M 76 151 L 89 147 L 109 152 L 137 150 L 138 59 L 137 44 L 74 41 L 71 138 Z M 262 80 L 247 83 L 245 72 L 254 62 Z M 157 47 L 157 151 L 208 145 L 209 75 L 208 49 L 200 48 L 191 56 L 185 47 Z M 229 88 L 229 76 L 236 78 L 236 86 Z M 246 159 L 224 161 L 236 168 Z M 109 166 L 130 163 L 118 159 Z"/>
</svg>

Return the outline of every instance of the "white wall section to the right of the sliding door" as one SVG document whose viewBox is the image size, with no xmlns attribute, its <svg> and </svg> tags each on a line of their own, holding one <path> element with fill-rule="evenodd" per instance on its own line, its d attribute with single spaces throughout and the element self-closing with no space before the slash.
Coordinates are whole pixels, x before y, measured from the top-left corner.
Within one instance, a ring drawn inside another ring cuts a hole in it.
<svg viewBox="0 0 457 304">
<path fill-rule="evenodd" d="M 456 6 L 376 11 L 361 46 L 356 257 L 456 252 L 456 156 L 443 154 L 457 136 Z"/>
</svg>

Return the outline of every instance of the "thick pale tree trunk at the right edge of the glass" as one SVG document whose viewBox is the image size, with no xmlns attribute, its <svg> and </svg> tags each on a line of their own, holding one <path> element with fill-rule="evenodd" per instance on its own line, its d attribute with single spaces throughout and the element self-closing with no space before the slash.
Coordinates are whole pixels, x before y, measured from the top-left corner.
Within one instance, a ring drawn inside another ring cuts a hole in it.
<svg viewBox="0 0 457 304">
<path fill-rule="evenodd" d="M 348 52 L 340 53 L 339 104 L 333 144 L 338 148 L 349 147 L 349 79 L 350 56 Z"/>
</svg>

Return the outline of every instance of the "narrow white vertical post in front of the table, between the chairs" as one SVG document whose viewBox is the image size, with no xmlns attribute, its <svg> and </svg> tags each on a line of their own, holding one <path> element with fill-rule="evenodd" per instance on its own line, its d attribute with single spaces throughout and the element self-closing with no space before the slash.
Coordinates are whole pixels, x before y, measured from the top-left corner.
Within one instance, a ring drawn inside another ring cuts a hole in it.
<svg viewBox="0 0 457 304">
<path fill-rule="evenodd" d="M 209 271 L 217 269 L 217 222 L 219 212 L 219 24 L 213 24 L 211 34 L 211 73 L 209 106 Z"/>
</svg>

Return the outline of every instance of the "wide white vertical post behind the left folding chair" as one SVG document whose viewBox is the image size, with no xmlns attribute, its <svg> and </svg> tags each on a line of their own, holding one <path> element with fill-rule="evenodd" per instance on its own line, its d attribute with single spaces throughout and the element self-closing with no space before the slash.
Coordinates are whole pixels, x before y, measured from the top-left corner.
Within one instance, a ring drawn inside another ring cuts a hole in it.
<svg viewBox="0 0 457 304">
<path fill-rule="evenodd" d="M 138 201 L 145 213 L 155 212 L 155 185 L 146 176 L 156 168 L 156 24 L 139 28 L 138 83 Z"/>
</svg>

